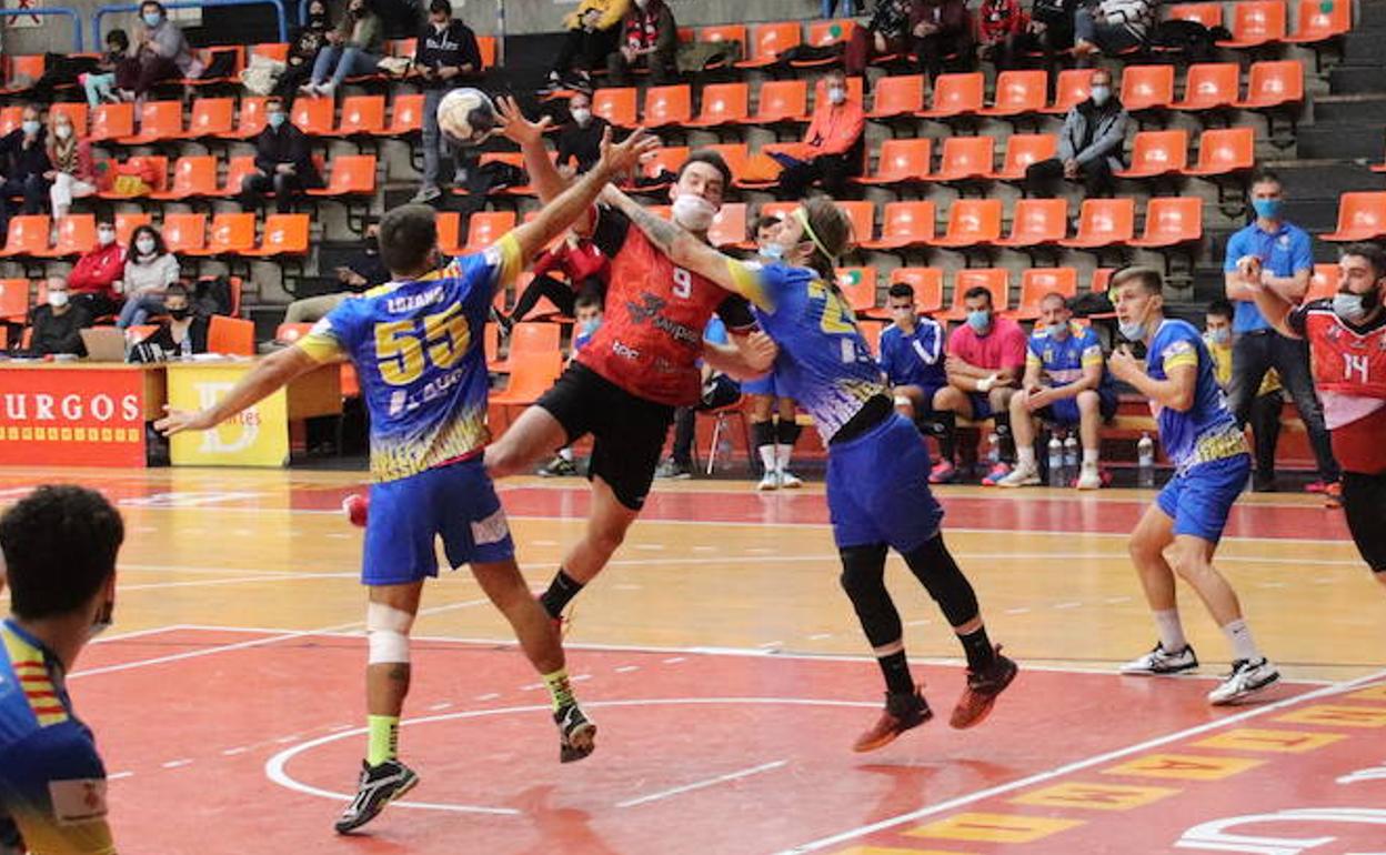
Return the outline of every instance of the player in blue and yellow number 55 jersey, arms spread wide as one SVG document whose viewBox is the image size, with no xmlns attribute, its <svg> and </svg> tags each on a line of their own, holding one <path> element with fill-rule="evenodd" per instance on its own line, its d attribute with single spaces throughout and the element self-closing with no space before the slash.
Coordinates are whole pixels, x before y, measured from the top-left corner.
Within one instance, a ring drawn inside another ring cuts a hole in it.
<svg viewBox="0 0 1386 855">
<path fill-rule="evenodd" d="M 396 757 L 398 730 L 409 691 L 409 632 L 424 579 L 438 575 L 434 543 L 439 536 L 449 564 L 471 564 L 477 582 L 543 675 L 560 759 L 592 752 L 596 726 L 572 696 L 563 644 L 520 575 L 505 510 L 481 463 L 489 439 L 481 331 L 496 291 L 563 234 L 611 176 L 633 166 L 654 143 L 642 132 L 620 146 L 604 141 L 597 166 L 532 222 L 441 270 L 432 208 L 389 211 L 380 223 L 380 254 L 392 281 L 334 309 L 297 346 L 266 358 L 213 406 L 169 412 L 155 425 L 165 434 L 209 430 L 338 358 L 349 359 L 360 376 L 370 409 L 374 479 L 362 568 L 370 592 L 370 736 L 359 793 L 337 820 L 338 831 L 360 827 L 419 783 Z"/>
</svg>

